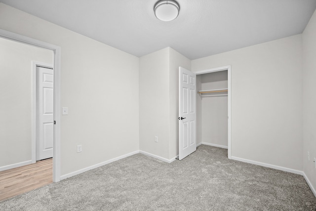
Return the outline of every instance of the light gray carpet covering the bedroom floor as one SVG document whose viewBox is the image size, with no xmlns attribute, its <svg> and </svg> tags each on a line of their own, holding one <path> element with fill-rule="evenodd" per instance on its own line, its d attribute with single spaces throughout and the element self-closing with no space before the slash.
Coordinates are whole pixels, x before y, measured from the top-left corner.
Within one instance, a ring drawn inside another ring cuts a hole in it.
<svg viewBox="0 0 316 211">
<path fill-rule="evenodd" d="M 303 176 L 201 145 L 171 164 L 142 154 L 0 202 L 1 211 L 316 211 Z"/>
</svg>

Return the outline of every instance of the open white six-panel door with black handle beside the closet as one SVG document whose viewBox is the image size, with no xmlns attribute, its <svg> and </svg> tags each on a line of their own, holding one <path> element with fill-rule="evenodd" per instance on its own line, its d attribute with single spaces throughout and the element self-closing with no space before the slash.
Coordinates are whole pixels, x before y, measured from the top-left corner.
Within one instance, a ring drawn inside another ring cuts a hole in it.
<svg viewBox="0 0 316 211">
<path fill-rule="evenodd" d="M 179 67 L 179 160 L 197 150 L 196 74 Z"/>
</svg>

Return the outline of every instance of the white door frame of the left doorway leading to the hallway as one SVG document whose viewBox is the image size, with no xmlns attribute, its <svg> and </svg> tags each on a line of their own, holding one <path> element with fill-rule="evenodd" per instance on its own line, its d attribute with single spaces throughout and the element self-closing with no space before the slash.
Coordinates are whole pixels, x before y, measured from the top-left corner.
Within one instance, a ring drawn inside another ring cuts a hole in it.
<svg viewBox="0 0 316 211">
<path fill-rule="evenodd" d="M 53 182 L 58 182 L 60 181 L 60 47 L 2 29 L 0 29 L 0 37 L 11 41 L 46 48 L 54 52 L 54 121 L 56 122 L 54 125 Z M 32 127 L 34 127 L 33 122 Z M 32 140 L 34 135 L 32 129 Z"/>
</svg>

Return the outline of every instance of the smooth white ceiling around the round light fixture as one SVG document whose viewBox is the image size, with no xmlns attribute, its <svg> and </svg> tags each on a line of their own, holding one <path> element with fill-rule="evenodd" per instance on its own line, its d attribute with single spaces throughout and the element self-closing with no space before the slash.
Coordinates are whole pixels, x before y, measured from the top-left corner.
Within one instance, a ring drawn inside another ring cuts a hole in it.
<svg viewBox="0 0 316 211">
<path fill-rule="evenodd" d="M 177 0 L 177 19 L 157 0 L 0 0 L 74 32 L 143 56 L 170 46 L 193 60 L 304 31 L 316 0 Z"/>
</svg>

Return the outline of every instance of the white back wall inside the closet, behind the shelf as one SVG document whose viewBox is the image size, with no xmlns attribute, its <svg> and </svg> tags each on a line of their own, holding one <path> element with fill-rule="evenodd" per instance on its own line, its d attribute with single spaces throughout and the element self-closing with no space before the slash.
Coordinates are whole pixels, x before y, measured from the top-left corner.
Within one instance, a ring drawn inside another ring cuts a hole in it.
<svg viewBox="0 0 316 211">
<path fill-rule="evenodd" d="M 228 88 L 227 71 L 201 75 L 201 90 Z M 223 96 L 226 94 L 226 96 Z M 227 92 L 205 93 L 201 100 L 202 142 L 228 146 Z"/>
</svg>

